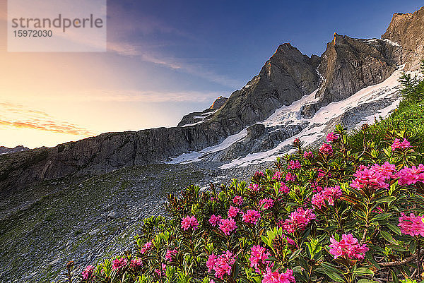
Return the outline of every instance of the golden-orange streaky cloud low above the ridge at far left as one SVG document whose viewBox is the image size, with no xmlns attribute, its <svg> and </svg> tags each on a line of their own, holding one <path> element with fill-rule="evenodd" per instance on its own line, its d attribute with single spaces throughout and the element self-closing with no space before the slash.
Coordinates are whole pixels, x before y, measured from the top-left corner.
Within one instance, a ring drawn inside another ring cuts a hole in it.
<svg viewBox="0 0 424 283">
<path fill-rule="evenodd" d="M 0 126 L 13 128 L 30 128 L 54 133 L 65 133 L 74 136 L 93 136 L 86 128 L 55 121 L 54 117 L 37 109 L 28 109 L 20 104 L 0 102 Z"/>
</svg>

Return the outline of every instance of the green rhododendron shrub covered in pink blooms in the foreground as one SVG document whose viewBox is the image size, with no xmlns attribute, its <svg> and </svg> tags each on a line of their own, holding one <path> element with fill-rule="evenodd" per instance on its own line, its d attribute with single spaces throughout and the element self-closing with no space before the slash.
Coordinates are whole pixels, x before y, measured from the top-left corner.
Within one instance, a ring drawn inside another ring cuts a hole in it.
<svg viewBox="0 0 424 283">
<path fill-rule="evenodd" d="M 353 150 L 336 126 L 318 150 L 293 143 L 249 183 L 169 195 L 131 253 L 82 282 L 420 282 L 424 165 L 408 133 Z M 397 141 L 396 141 L 397 140 Z M 394 148 L 394 150 L 393 150 Z"/>
</svg>

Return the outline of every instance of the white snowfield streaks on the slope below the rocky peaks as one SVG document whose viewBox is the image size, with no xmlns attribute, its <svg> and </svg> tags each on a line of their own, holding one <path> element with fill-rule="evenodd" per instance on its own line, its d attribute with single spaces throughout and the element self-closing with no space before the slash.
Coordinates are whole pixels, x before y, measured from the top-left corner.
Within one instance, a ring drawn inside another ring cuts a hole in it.
<svg viewBox="0 0 424 283">
<path fill-rule="evenodd" d="M 232 159 L 231 162 L 223 164 L 220 169 L 228 169 L 231 167 L 244 167 L 249 164 L 258 164 L 262 162 L 270 162 L 276 159 L 278 155 L 283 155 L 290 152 L 290 144 L 293 143 L 295 138 L 300 138 L 305 145 L 311 145 L 315 141 L 323 138 L 326 134 L 326 127 L 329 126 L 331 121 L 341 117 L 344 113 L 351 111 L 357 107 L 360 107 L 364 104 L 370 104 L 370 102 L 379 102 L 385 99 L 394 97 L 397 93 L 397 88 L 399 85 L 399 77 L 403 71 L 403 66 L 399 67 L 394 73 L 389 76 L 382 83 L 377 85 L 371 85 L 367 88 L 359 90 L 351 97 L 348 97 L 346 100 L 341 100 L 339 102 L 332 102 L 325 107 L 320 108 L 314 116 L 310 119 L 304 119 L 301 117 L 302 108 L 307 104 L 317 102 L 319 99 L 315 97 L 319 89 L 314 90 L 310 95 L 305 95 L 300 100 L 293 102 L 290 105 L 283 106 L 269 116 L 268 119 L 258 122 L 257 124 L 263 124 L 266 128 L 281 126 L 281 125 L 295 125 L 300 124 L 301 122 L 307 121 L 309 126 L 304 128 L 297 135 L 284 140 L 279 143 L 276 147 L 273 147 L 271 150 L 264 152 L 255 152 L 249 153 L 245 157 L 238 157 L 237 159 Z M 416 74 L 413 72 L 412 74 Z M 400 100 L 394 100 L 389 106 L 382 107 L 375 114 L 365 116 L 364 119 L 360 121 L 356 126 L 361 126 L 363 124 L 372 124 L 375 119 L 378 119 L 380 116 L 382 118 L 389 115 L 394 109 L 399 106 Z M 184 125 L 188 126 L 188 125 Z M 235 135 L 228 136 L 222 143 L 218 145 L 213 145 L 211 147 L 206 147 L 204 150 L 199 152 L 189 152 L 183 153 L 178 157 L 175 157 L 171 161 L 165 162 L 167 164 L 176 164 L 176 163 L 188 163 L 188 162 L 199 162 L 204 157 L 210 155 L 213 152 L 218 152 L 225 150 L 230 147 L 232 144 L 239 142 L 247 136 L 247 128 L 236 133 Z"/>
</svg>

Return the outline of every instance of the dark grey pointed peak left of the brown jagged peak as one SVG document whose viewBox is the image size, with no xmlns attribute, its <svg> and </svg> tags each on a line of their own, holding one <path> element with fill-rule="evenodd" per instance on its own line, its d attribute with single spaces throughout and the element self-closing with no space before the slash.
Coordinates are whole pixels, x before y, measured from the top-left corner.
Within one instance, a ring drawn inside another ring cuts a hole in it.
<svg viewBox="0 0 424 283">
<path fill-rule="evenodd" d="M 303 55 L 289 43 L 280 45 L 258 76 L 241 90 L 232 92 L 224 106 L 214 114 L 214 119 L 223 121 L 227 128 L 235 131 L 266 119 L 277 108 L 318 87 L 318 64 L 318 56 Z"/>
</svg>

